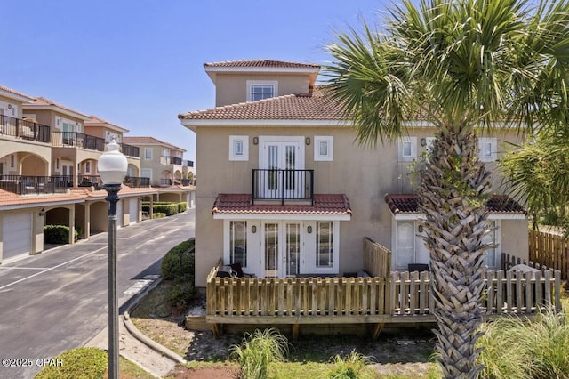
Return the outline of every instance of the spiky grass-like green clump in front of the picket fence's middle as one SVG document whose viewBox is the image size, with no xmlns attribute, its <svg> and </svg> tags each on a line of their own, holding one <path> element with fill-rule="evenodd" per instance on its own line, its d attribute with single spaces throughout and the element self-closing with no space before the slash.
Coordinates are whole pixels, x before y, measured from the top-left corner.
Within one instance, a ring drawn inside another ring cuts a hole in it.
<svg viewBox="0 0 569 379">
<path fill-rule="evenodd" d="M 240 345 L 229 348 L 229 356 L 236 359 L 245 379 L 264 379 L 268 377 L 268 365 L 286 359 L 289 343 L 276 329 L 255 330 L 246 333 Z"/>
</svg>

